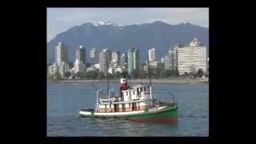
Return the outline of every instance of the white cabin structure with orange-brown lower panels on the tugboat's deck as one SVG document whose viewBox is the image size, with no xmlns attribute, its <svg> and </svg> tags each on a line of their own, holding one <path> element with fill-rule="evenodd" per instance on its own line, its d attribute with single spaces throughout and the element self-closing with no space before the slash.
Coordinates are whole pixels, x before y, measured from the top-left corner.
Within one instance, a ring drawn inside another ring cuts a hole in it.
<svg viewBox="0 0 256 144">
<path fill-rule="evenodd" d="M 97 92 L 96 112 L 107 113 L 145 110 L 154 105 L 151 86 L 138 84 L 131 89 L 122 90 L 119 95 L 115 93 L 111 97 L 110 92 L 112 91 L 109 91 L 109 98 L 98 98 L 101 95 L 99 93 L 100 91 Z"/>
</svg>

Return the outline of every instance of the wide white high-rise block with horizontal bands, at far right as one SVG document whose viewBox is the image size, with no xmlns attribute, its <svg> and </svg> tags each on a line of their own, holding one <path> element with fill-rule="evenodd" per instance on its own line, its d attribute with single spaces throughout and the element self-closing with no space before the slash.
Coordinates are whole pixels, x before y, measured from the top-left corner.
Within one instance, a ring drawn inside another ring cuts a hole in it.
<svg viewBox="0 0 256 144">
<path fill-rule="evenodd" d="M 199 69 L 206 72 L 206 46 L 198 38 L 194 38 L 190 42 L 190 46 L 178 48 L 178 73 L 180 75 L 187 73 L 195 73 Z"/>
</svg>

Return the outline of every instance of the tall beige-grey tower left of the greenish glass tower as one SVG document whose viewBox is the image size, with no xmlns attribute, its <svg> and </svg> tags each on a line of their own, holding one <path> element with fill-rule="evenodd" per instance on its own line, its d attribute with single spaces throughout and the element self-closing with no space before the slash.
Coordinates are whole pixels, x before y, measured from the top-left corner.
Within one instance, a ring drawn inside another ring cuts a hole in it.
<svg viewBox="0 0 256 144">
<path fill-rule="evenodd" d="M 104 74 L 107 74 L 108 67 L 110 66 L 111 62 L 111 51 L 108 49 L 102 50 L 100 54 L 100 71 Z"/>
</svg>

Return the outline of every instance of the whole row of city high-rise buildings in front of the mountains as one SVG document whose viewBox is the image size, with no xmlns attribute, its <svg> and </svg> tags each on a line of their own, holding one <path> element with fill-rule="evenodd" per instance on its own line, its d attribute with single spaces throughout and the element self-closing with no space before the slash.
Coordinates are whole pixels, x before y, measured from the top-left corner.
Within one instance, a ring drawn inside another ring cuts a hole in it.
<svg viewBox="0 0 256 144">
<path fill-rule="evenodd" d="M 94 62 L 84 63 L 86 48 L 82 45 L 78 46 L 76 52 L 76 60 L 74 66 L 69 66 L 67 62 L 66 46 L 62 42 L 58 42 L 56 46 L 55 62 L 48 67 L 50 75 L 60 73 L 62 77 L 68 71 L 71 74 L 78 74 L 78 72 L 86 73 L 91 70 L 99 70 L 106 74 L 120 74 L 127 72 L 129 76 L 137 77 L 140 73 L 138 70 L 147 71 L 147 62 L 139 62 L 138 47 L 130 47 L 126 53 L 120 54 L 118 50 L 104 49 L 97 51 L 96 47 L 90 49 L 90 57 L 95 58 Z M 196 73 L 202 70 L 203 73 L 207 72 L 209 67 L 209 58 L 206 56 L 206 46 L 202 46 L 202 42 L 198 38 L 191 39 L 191 42 L 186 46 L 176 43 L 170 46 L 166 56 L 163 58 L 156 58 L 157 50 L 154 47 L 148 49 L 148 62 L 150 67 L 158 70 L 172 70 L 174 74 L 184 75 Z M 127 59 L 126 59 L 127 58 Z M 98 60 L 97 60 L 98 59 Z M 95 60 L 98 63 L 95 63 Z M 89 64 L 89 65 L 88 65 Z M 89 67 L 86 67 L 86 66 Z M 145 66 L 142 68 L 143 66 Z M 193 70 L 192 70 L 193 68 Z"/>
</svg>

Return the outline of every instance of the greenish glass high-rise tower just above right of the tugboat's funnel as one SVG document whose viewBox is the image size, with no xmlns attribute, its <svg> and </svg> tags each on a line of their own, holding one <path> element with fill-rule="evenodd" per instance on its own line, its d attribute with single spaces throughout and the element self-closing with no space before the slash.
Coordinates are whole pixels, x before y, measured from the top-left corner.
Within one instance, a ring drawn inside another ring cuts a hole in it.
<svg viewBox="0 0 256 144">
<path fill-rule="evenodd" d="M 136 73 L 136 71 L 139 68 L 138 57 L 139 57 L 138 49 L 129 48 L 129 50 L 128 50 L 128 74 L 130 76 L 134 76 L 134 74 Z"/>
</svg>

